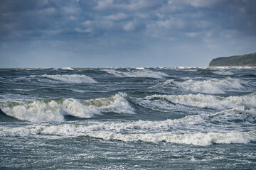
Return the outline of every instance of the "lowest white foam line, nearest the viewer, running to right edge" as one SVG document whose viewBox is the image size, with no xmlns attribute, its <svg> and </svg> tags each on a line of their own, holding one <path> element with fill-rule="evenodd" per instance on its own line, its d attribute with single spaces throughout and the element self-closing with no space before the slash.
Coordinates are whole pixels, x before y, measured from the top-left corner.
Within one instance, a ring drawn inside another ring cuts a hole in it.
<svg viewBox="0 0 256 170">
<path fill-rule="evenodd" d="M 178 144 L 208 146 L 213 144 L 248 143 L 256 140 L 256 131 L 228 132 L 228 133 L 195 133 L 195 134 L 119 134 L 119 133 L 94 133 L 90 137 L 102 138 L 103 140 L 122 140 L 124 142 L 171 142 Z"/>
</svg>

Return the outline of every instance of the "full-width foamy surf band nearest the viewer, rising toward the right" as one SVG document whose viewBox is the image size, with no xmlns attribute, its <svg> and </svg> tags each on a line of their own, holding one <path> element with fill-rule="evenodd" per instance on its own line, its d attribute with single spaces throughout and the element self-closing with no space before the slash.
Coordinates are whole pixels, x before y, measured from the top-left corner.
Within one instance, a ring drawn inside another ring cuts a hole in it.
<svg viewBox="0 0 256 170">
<path fill-rule="evenodd" d="M 235 108 L 219 113 L 188 115 L 181 119 L 164 121 L 135 121 L 127 123 L 93 123 L 88 125 L 38 125 L 0 128 L 0 136 L 35 136 L 36 137 L 97 137 L 102 140 L 121 140 L 124 142 L 171 142 L 187 145 L 213 145 L 230 143 L 248 143 L 256 140 L 255 130 L 245 130 L 227 120 L 241 120 L 241 123 L 255 123 L 255 110 L 246 111 Z M 215 121 L 221 121 L 220 129 Z M 223 130 L 228 125 L 227 130 Z M 230 125 L 230 126 L 229 126 Z M 194 130 L 193 130 L 194 129 Z M 196 130 L 195 130 L 196 129 Z M 244 130 L 244 131 L 242 131 Z"/>
</svg>

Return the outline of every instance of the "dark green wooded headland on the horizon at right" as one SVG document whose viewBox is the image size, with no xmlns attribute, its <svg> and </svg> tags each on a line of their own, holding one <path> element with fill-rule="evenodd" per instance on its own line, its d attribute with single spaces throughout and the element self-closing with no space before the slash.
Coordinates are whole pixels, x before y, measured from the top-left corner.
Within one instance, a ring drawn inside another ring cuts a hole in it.
<svg viewBox="0 0 256 170">
<path fill-rule="evenodd" d="M 213 59 L 210 67 L 215 66 L 256 66 L 256 52 L 247 55 L 235 55 L 231 57 L 218 57 Z"/>
</svg>

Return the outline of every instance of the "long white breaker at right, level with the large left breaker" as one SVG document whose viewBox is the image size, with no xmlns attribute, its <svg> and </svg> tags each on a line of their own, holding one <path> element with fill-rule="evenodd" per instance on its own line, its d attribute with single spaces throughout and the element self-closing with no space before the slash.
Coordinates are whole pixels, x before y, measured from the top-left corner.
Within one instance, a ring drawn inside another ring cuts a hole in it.
<svg viewBox="0 0 256 170">
<path fill-rule="evenodd" d="M 185 106 L 195 106 L 199 108 L 215 108 L 219 110 L 228 108 L 238 108 L 245 106 L 246 108 L 256 108 L 256 93 L 247 94 L 245 96 L 213 96 L 206 94 L 187 94 L 187 95 L 152 95 L 146 96 L 142 102 L 150 103 L 154 100 L 166 100 L 171 103 L 181 104 Z"/>
</svg>

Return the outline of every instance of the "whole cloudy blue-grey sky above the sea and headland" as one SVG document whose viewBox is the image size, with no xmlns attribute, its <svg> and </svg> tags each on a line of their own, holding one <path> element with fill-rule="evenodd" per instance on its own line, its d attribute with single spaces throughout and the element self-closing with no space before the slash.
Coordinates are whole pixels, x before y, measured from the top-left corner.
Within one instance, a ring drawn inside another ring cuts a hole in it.
<svg viewBox="0 0 256 170">
<path fill-rule="evenodd" d="M 0 0 L 0 67 L 205 67 L 256 52 L 255 0 Z"/>
</svg>

